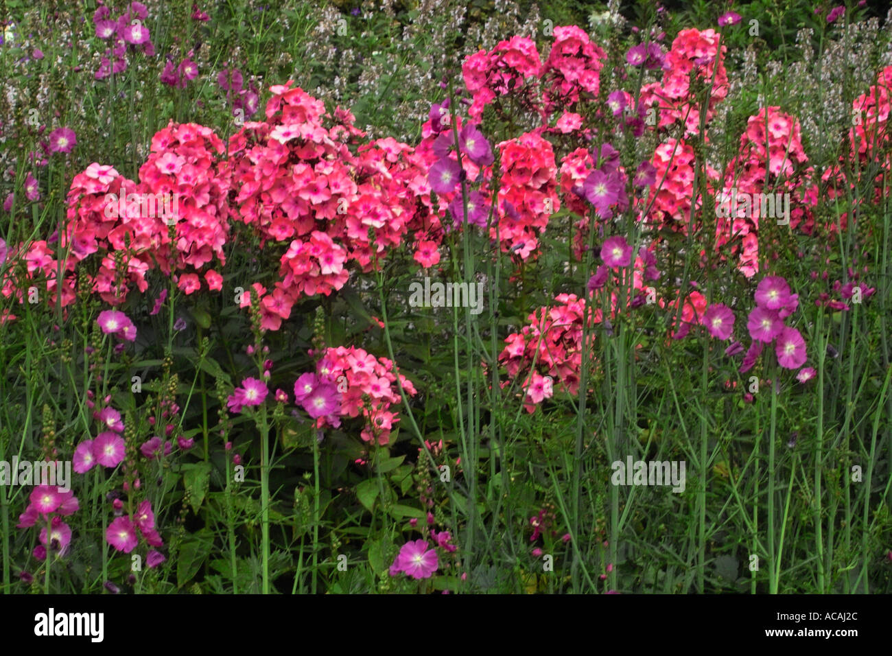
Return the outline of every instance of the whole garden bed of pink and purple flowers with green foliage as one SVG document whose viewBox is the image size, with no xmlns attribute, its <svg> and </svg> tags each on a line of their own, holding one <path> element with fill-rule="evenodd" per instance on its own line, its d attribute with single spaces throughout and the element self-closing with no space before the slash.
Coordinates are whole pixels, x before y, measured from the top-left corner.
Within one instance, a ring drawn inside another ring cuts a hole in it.
<svg viewBox="0 0 892 656">
<path fill-rule="evenodd" d="M 890 18 L 0 0 L 4 593 L 892 591 Z"/>
</svg>

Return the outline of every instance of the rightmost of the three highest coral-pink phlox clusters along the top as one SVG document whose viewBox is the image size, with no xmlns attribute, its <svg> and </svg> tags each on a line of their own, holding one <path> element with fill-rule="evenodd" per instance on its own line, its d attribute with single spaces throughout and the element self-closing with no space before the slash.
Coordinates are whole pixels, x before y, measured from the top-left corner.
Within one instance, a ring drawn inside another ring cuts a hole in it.
<svg viewBox="0 0 892 656">
<path fill-rule="evenodd" d="M 665 55 L 663 81 L 641 87 L 641 104 L 658 109 L 657 127 L 682 121 L 684 137 L 699 133 L 699 101 L 690 89 L 691 71 L 706 85 L 712 85 L 706 121 L 712 120 L 715 105 L 728 95 L 728 73 L 723 62 L 725 51 L 722 46 L 719 54 L 719 34 L 714 29 L 682 29 L 678 33 Z"/>
</svg>

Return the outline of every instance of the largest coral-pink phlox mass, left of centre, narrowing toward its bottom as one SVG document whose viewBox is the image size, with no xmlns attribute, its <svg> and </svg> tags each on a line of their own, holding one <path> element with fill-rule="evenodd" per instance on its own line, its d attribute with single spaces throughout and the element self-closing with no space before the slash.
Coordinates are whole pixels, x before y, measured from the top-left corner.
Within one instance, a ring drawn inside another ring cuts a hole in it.
<svg viewBox="0 0 892 656">
<path fill-rule="evenodd" d="M 339 109 L 328 120 L 320 101 L 290 85 L 271 87 L 267 120 L 245 123 L 230 139 L 227 164 L 238 220 L 257 230 L 261 245 L 290 242 L 274 288 L 254 285 L 261 326 L 271 330 L 301 296 L 343 287 L 347 262 L 371 270 L 385 249 L 401 244 L 415 227 L 415 195 L 426 172 L 412 149 L 392 138 L 352 154 L 347 142 L 363 136 L 352 114 Z M 243 306 L 250 303 L 245 294 Z"/>
</svg>

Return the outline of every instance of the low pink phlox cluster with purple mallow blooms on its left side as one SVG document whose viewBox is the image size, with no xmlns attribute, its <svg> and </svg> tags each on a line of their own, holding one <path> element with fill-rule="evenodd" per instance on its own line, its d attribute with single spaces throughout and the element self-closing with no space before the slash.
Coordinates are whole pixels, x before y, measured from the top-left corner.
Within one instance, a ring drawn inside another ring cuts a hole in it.
<svg viewBox="0 0 892 656">
<path fill-rule="evenodd" d="M 338 426 L 338 415 L 358 417 L 361 413 L 366 419 L 360 433 L 362 439 L 387 444 L 393 425 L 400 420 L 390 411 L 392 404 L 401 402 L 392 369 L 392 361 L 376 358 L 356 346 L 328 348 L 317 362 L 315 377 L 304 374 L 295 382 L 294 395 L 317 420 L 319 428 Z M 400 383 L 407 395 L 417 394 L 415 386 L 402 374 Z M 368 404 L 363 401 L 364 395 L 368 395 Z M 340 406 L 331 403 L 332 399 L 339 401 Z"/>
</svg>

